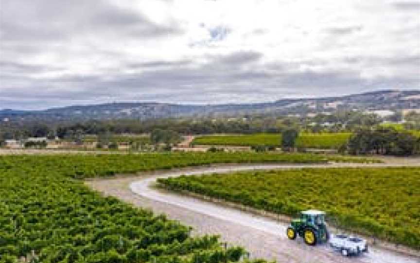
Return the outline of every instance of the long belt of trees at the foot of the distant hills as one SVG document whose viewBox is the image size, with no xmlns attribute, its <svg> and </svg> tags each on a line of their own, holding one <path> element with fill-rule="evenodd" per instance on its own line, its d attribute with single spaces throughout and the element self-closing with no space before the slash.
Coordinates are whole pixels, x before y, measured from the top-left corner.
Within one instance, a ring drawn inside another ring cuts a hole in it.
<svg viewBox="0 0 420 263">
<path fill-rule="evenodd" d="M 23 137 L 65 138 L 75 133 L 100 134 L 112 132 L 150 133 L 153 130 L 171 130 L 180 134 L 212 133 L 279 133 L 284 129 L 297 128 L 307 132 L 355 131 L 361 127 L 373 127 L 382 122 L 377 115 L 361 112 L 337 111 L 333 114 L 318 114 L 314 117 L 241 115 L 235 117 L 162 118 L 150 120 L 118 119 L 88 121 L 8 121 L 0 122 L 0 139 Z M 406 116 L 410 129 L 420 128 L 420 115 Z"/>
</svg>

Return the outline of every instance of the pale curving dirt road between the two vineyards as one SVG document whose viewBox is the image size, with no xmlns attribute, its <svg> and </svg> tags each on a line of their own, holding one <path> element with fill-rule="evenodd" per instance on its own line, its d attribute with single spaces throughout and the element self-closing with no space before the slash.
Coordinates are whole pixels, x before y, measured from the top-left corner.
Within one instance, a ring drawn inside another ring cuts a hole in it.
<svg viewBox="0 0 420 263">
<path fill-rule="evenodd" d="M 418 159 L 400 164 L 330 164 L 328 167 L 405 166 L 420 165 Z M 193 234 L 220 234 L 230 244 L 246 247 L 253 258 L 273 259 L 287 263 L 419 263 L 420 258 L 372 247 L 367 255 L 345 258 L 327 246 L 309 247 L 302 240 L 290 241 L 285 237 L 286 224 L 256 216 L 234 208 L 220 206 L 204 200 L 177 195 L 151 188 L 156 178 L 181 174 L 227 173 L 252 169 L 290 169 L 324 167 L 325 164 L 233 164 L 215 165 L 169 172 L 143 174 L 139 177 L 87 181 L 94 189 L 106 195 L 119 197 L 137 206 L 151 208 L 156 213 L 181 221 L 194 228 Z M 131 191 L 130 191 L 131 189 Z"/>
</svg>

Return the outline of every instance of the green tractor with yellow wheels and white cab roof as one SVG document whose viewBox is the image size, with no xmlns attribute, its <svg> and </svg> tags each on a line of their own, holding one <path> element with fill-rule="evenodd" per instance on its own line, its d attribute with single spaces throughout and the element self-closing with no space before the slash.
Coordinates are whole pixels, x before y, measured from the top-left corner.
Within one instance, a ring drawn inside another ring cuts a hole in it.
<svg viewBox="0 0 420 263">
<path fill-rule="evenodd" d="M 295 239 L 298 234 L 310 246 L 327 242 L 330 235 L 325 225 L 325 212 L 318 210 L 300 212 L 300 218 L 292 220 L 286 234 L 289 239 Z"/>
</svg>

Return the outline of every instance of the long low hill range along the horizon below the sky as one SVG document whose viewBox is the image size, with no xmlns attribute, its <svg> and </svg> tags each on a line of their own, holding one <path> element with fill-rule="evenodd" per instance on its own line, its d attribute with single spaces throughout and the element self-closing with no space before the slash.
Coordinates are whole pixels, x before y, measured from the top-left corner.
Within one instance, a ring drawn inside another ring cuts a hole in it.
<svg viewBox="0 0 420 263">
<path fill-rule="evenodd" d="M 0 120 L 151 119 L 238 114 L 308 114 L 343 110 L 420 109 L 420 90 L 383 90 L 342 97 L 280 99 L 249 104 L 182 105 L 154 102 L 69 106 L 44 111 L 0 110 Z"/>
</svg>

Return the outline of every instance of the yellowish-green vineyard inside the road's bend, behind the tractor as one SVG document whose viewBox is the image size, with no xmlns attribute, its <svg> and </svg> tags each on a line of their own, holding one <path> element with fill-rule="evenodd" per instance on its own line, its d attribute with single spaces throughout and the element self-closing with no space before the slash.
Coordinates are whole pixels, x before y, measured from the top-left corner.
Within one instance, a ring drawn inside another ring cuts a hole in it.
<svg viewBox="0 0 420 263">
<path fill-rule="evenodd" d="M 278 214 L 324 210 L 335 226 L 420 249 L 420 168 L 255 171 L 158 182 Z"/>
</svg>

